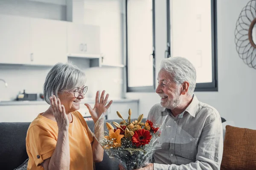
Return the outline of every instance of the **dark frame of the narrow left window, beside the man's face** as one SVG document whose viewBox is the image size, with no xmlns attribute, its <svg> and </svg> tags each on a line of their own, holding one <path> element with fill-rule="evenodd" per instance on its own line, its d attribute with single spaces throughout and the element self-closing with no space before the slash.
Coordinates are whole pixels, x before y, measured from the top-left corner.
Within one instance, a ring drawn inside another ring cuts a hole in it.
<svg viewBox="0 0 256 170">
<path fill-rule="evenodd" d="M 155 92 L 155 0 L 152 0 L 152 36 L 153 36 L 153 51 L 152 51 L 152 59 L 153 59 L 153 85 L 152 86 L 141 86 L 141 87 L 129 87 L 128 86 L 128 0 L 125 0 L 125 47 L 126 47 L 126 92 Z"/>
</svg>

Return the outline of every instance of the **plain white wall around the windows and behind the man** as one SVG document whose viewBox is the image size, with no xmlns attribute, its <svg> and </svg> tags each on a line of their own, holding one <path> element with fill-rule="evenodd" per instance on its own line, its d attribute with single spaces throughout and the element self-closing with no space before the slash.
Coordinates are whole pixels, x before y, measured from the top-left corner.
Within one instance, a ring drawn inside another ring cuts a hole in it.
<svg viewBox="0 0 256 170">
<path fill-rule="evenodd" d="M 237 127 L 256 129 L 255 84 L 256 70 L 249 68 L 239 58 L 234 42 L 236 20 L 249 0 L 217 0 L 218 33 L 218 92 L 195 92 L 201 102 L 215 107 L 220 115 L 233 120 Z M 157 5 L 156 5 L 157 7 Z M 163 8 L 165 9 L 165 7 Z M 157 20 L 163 20 L 156 9 Z M 164 13 L 161 13 L 164 15 Z M 161 24 L 158 22 L 158 24 Z M 160 27 L 159 25 L 157 27 Z M 156 28 L 157 31 L 157 28 Z M 158 36 L 159 32 L 156 32 Z M 156 37 L 157 39 L 157 37 Z M 166 41 L 156 42 L 156 47 L 166 46 Z M 163 54 L 156 54 L 156 65 Z M 140 98 L 140 113 L 147 116 L 149 109 L 160 98 L 155 93 L 127 93 L 127 97 Z"/>
</svg>

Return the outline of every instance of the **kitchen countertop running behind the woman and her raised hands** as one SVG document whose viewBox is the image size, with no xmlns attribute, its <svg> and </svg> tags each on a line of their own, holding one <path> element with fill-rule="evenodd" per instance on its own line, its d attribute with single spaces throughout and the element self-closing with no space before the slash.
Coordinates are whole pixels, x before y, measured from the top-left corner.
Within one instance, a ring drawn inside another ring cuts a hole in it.
<svg viewBox="0 0 256 170">
<path fill-rule="evenodd" d="M 115 99 L 111 99 L 111 100 L 113 100 L 113 103 L 139 102 L 139 99 L 115 98 Z M 85 98 L 85 99 L 82 99 L 81 102 L 82 103 L 94 103 L 95 99 Z M 37 101 L 0 101 L 0 106 L 8 106 L 8 105 L 48 105 L 48 104 L 44 100 L 37 100 Z"/>
</svg>

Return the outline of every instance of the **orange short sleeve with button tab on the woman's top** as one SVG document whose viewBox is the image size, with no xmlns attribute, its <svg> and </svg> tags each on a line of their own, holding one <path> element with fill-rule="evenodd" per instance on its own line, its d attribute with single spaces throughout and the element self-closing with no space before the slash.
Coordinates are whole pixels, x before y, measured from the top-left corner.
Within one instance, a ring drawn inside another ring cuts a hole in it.
<svg viewBox="0 0 256 170">
<path fill-rule="evenodd" d="M 39 166 L 45 159 L 52 156 L 56 143 L 57 139 L 44 127 L 34 125 L 27 132 L 26 146 L 36 166 Z"/>
</svg>

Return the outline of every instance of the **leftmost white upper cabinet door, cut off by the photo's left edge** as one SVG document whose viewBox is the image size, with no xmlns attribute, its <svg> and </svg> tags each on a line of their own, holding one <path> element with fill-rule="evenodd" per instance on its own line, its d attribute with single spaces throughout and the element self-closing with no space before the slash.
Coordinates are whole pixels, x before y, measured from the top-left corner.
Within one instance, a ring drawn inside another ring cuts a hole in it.
<svg viewBox="0 0 256 170">
<path fill-rule="evenodd" d="M 30 63 L 30 19 L 0 15 L 0 63 Z"/>
</svg>

